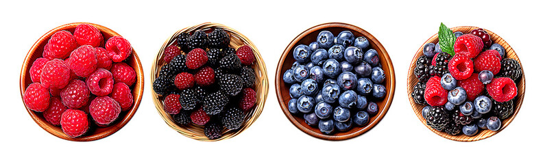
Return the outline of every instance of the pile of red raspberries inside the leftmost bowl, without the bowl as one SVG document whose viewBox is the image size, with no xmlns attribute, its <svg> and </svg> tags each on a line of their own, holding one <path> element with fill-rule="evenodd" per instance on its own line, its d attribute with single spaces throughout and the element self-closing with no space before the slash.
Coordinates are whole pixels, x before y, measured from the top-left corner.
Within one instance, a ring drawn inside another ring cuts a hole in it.
<svg viewBox="0 0 545 164">
<path fill-rule="evenodd" d="M 95 124 L 108 126 L 133 104 L 136 72 L 123 62 L 131 53 L 125 38 L 114 36 L 105 43 L 93 25 L 77 25 L 73 34 L 58 31 L 33 61 L 32 84 L 23 101 L 69 137 L 80 137 Z"/>
</svg>

